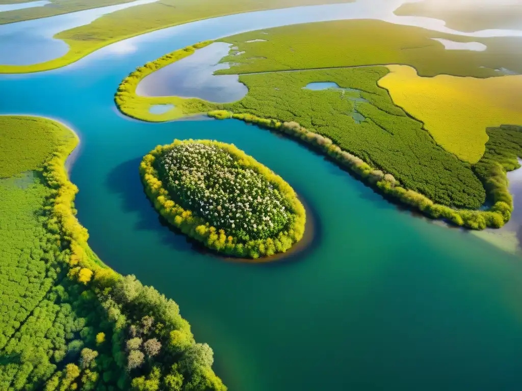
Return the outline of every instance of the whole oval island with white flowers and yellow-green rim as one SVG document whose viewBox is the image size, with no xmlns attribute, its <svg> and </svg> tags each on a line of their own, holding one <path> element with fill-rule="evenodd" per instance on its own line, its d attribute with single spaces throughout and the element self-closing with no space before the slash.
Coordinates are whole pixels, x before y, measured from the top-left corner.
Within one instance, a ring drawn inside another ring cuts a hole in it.
<svg viewBox="0 0 522 391">
<path fill-rule="evenodd" d="M 290 185 L 234 145 L 158 145 L 140 175 L 169 224 L 212 250 L 257 259 L 286 252 L 303 237 L 305 210 Z"/>
</svg>

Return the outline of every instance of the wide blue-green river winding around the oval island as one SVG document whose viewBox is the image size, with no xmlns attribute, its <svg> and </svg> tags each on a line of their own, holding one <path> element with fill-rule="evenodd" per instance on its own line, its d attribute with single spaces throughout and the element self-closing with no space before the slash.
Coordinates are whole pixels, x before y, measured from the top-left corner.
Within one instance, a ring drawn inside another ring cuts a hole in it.
<svg viewBox="0 0 522 391">
<path fill-rule="evenodd" d="M 520 258 L 398 210 L 267 130 L 234 120 L 149 124 L 117 112 L 113 94 L 129 71 L 245 29 L 230 22 L 241 18 L 227 20 L 151 33 L 54 71 L 0 76 L 0 113 L 56 118 L 79 133 L 71 177 L 93 250 L 180 304 L 231 391 L 520 389 Z M 234 263 L 163 226 L 137 167 L 174 138 L 231 142 L 275 170 L 316 217 L 310 248 L 272 264 Z"/>
</svg>

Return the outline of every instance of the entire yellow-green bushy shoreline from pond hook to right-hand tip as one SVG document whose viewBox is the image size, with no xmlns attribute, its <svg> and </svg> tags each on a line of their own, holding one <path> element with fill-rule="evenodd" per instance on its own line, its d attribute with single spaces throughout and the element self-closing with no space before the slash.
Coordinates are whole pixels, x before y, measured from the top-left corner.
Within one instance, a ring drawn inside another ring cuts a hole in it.
<svg viewBox="0 0 522 391">
<path fill-rule="evenodd" d="M 487 183 L 484 183 L 484 186 L 487 188 L 487 196 L 493 205 L 492 207 L 488 210 L 453 209 L 449 206 L 436 204 L 419 192 L 401 187 L 392 175 L 385 174 L 381 170 L 371 167 L 361 158 L 341 150 L 330 139 L 307 130 L 297 123 L 281 123 L 278 119 L 232 113 L 217 109 L 222 107 L 222 105 L 212 104 L 200 99 L 183 99 L 177 96 L 142 97 L 136 94 L 137 85 L 143 78 L 160 68 L 193 54 L 198 48 L 205 47 L 212 42 L 199 42 L 181 50 L 165 54 L 157 60 L 145 64 L 143 67 L 137 67 L 118 86 L 114 96 L 118 109 L 129 117 L 149 122 L 163 122 L 203 113 L 207 113 L 208 116 L 216 119 L 241 119 L 271 130 L 281 131 L 285 135 L 310 146 L 329 157 L 342 168 L 348 169 L 350 173 L 355 174 L 356 177 L 365 184 L 370 185 L 374 190 L 377 190 L 385 198 L 417 210 L 426 217 L 443 219 L 452 225 L 476 230 L 500 228 L 511 218 L 513 200 L 511 198 L 506 199 L 506 197 L 497 197 L 498 194 L 508 192 L 506 171 L 502 167 L 494 170 Z M 155 115 L 148 112 L 149 106 L 154 104 L 174 104 L 175 107 L 167 113 Z"/>
</svg>

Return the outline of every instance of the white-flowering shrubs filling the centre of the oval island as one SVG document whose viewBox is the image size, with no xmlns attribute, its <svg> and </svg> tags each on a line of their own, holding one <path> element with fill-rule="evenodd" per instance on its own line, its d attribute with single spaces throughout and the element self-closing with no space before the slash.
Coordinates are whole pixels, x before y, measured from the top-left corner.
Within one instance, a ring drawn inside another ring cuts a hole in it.
<svg viewBox="0 0 522 391">
<path fill-rule="evenodd" d="M 161 158 L 170 196 L 185 209 L 243 241 L 274 237 L 295 216 L 267 178 L 217 145 L 174 146 Z"/>
</svg>

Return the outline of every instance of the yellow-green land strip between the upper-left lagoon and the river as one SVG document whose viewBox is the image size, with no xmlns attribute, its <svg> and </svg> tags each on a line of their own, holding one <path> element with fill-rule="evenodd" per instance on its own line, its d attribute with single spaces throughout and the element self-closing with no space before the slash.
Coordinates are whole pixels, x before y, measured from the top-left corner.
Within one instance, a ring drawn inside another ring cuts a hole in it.
<svg viewBox="0 0 522 391">
<path fill-rule="evenodd" d="M 67 0 L 61 4 L 71 1 L 76 0 Z M 216 7 L 213 6 L 214 3 L 211 0 L 161 0 L 115 11 L 94 20 L 88 25 L 62 31 L 56 34 L 54 38 L 63 40 L 69 45 L 69 51 L 63 57 L 33 65 L 0 65 L 0 74 L 39 72 L 60 68 L 74 63 L 111 43 L 196 20 L 266 9 L 326 3 L 349 3 L 351 1 L 353 0 L 222 0 L 219 7 Z M 0 14 L 0 18 L 2 18 L 2 14 L 21 13 L 29 9 L 31 8 L 6 11 Z M 33 12 L 38 12 L 36 8 L 34 10 Z M 9 18 L 9 15 L 4 17 Z"/>
</svg>

